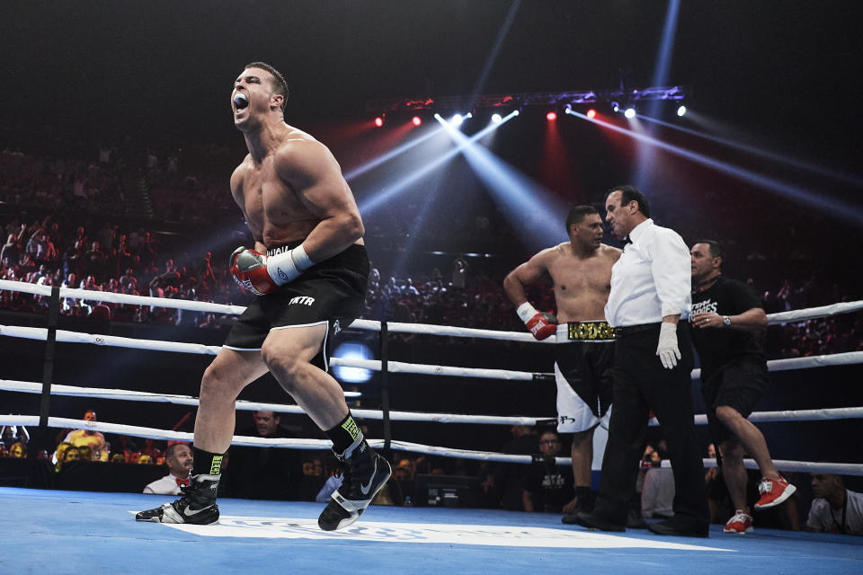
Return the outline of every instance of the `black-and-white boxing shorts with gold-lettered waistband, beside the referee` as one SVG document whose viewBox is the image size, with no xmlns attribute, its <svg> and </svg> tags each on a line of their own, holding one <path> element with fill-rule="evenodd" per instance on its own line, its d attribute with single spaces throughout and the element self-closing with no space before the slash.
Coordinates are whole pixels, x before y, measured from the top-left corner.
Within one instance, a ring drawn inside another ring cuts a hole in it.
<svg viewBox="0 0 863 575">
<path fill-rule="evenodd" d="M 555 380 L 557 431 L 575 433 L 603 423 L 608 428 L 616 333 L 605 322 L 557 326 Z"/>
</svg>

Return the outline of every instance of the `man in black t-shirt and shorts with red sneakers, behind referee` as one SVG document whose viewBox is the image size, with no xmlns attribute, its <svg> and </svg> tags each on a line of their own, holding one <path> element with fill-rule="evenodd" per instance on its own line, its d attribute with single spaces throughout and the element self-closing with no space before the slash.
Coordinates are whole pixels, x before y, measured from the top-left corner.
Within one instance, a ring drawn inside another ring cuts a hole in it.
<svg viewBox="0 0 863 575">
<path fill-rule="evenodd" d="M 761 469 L 761 498 L 755 509 L 775 507 L 796 491 L 776 470 L 761 431 L 746 419 L 770 385 L 767 360 L 753 333 L 767 327 L 767 314 L 747 285 L 722 276 L 720 243 L 700 241 L 690 254 L 692 343 L 701 358 L 707 425 L 719 446 L 722 474 L 736 509 L 724 531 L 751 533 L 744 453 L 752 455 Z"/>
</svg>

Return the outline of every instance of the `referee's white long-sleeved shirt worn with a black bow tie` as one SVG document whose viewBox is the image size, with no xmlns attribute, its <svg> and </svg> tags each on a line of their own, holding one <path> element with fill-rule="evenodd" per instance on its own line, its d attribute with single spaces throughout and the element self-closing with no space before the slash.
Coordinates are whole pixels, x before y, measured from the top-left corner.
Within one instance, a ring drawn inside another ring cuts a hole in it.
<svg viewBox="0 0 863 575">
<path fill-rule="evenodd" d="M 665 315 L 690 317 L 692 259 L 680 234 L 646 219 L 629 233 L 611 268 L 605 317 L 612 327 L 659 323 Z"/>
</svg>

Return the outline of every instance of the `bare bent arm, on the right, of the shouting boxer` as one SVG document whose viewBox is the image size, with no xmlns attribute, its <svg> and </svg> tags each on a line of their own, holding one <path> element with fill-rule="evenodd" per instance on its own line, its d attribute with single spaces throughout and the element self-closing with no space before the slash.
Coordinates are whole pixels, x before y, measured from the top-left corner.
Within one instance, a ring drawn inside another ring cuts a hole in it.
<svg viewBox="0 0 863 575">
<path fill-rule="evenodd" d="M 328 149 L 317 142 L 294 140 L 275 157 L 276 173 L 297 193 L 320 222 L 303 240 L 311 261 L 324 261 L 357 243 L 365 233 L 360 209 L 342 169 Z"/>
</svg>

